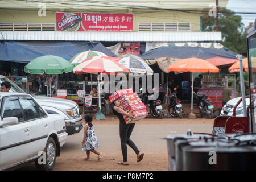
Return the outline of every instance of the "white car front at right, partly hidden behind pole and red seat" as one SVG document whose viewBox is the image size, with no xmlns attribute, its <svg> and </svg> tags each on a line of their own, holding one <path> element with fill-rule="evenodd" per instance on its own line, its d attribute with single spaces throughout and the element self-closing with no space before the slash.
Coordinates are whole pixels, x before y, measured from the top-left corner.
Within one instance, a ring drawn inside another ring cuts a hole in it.
<svg viewBox="0 0 256 182">
<path fill-rule="evenodd" d="M 229 100 L 221 109 L 220 115 L 227 115 L 232 116 L 233 115 L 233 109 L 234 106 L 237 104 L 237 102 L 240 100 L 241 97 L 233 98 L 232 100 Z M 246 102 L 246 108 L 250 104 L 250 98 L 245 99 Z M 236 109 L 236 116 L 243 117 L 243 104 L 240 102 L 240 104 L 237 106 Z"/>
</svg>

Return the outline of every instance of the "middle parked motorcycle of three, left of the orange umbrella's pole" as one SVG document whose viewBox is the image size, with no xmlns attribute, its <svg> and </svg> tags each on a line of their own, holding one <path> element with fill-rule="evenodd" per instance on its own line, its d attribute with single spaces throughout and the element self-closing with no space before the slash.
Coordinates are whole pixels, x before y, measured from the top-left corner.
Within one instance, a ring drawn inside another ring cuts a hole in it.
<svg viewBox="0 0 256 182">
<path fill-rule="evenodd" d="M 170 99 L 170 105 L 168 106 L 169 114 L 172 117 L 179 117 L 182 118 L 182 113 L 184 112 L 184 109 L 182 108 L 182 104 L 180 100 L 177 100 L 177 88 L 174 88 L 174 93 L 171 93 L 169 96 Z"/>
</svg>

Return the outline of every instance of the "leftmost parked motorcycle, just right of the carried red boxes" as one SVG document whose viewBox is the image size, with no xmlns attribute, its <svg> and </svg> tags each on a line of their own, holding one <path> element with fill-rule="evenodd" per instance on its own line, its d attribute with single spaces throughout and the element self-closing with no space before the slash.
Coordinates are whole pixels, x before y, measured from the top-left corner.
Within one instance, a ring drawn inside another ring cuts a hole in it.
<svg viewBox="0 0 256 182">
<path fill-rule="evenodd" d="M 139 89 L 142 92 L 142 88 Z M 154 90 L 154 89 L 153 89 Z M 164 110 L 162 107 L 162 102 L 160 100 L 156 100 L 156 94 L 147 95 L 146 93 L 139 93 L 139 97 L 141 98 L 144 104 L 148 104 L 150 109 L 150 114 L 155 118 L 164 117 Z"/>
</svg>

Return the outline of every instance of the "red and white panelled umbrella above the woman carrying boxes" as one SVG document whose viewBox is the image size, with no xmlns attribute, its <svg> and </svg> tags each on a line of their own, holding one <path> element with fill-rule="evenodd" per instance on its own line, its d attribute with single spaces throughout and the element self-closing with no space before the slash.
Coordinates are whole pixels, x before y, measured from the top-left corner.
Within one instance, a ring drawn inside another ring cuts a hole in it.
<svg viewBox="0 0 256 182">
<path fill-rule="evenodd" d="M 112 72 L 130 72 L 128 68 L 119 64 L 120 58 L 117 57 L 107 57 L 107 56 L 94 56 L 90 57 L 79 65 L 77 65 L 73 72 L 76 74 L 81 73 L 106 73 L 110 74 Z"/>
</svg>

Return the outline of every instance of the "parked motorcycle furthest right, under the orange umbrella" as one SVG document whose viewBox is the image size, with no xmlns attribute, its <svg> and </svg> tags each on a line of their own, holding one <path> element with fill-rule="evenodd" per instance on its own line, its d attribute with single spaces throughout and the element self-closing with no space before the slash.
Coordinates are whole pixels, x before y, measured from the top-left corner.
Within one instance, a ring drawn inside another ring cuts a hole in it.
<svg viewBox="0 0 256 182">
<path fill-rule="evenodd" d="M 207 98 L 207 96 L 199 95 L 199 93 L 195 93 L 194 95 L 196 97 L 196 105 L 200 111 L 201 117 L 203 118 L 204 115 L 207 115 L 207 118 L 212 119 L 213 118 L 213 105 L 212 101 Z"/>
</svg>

